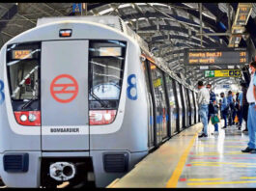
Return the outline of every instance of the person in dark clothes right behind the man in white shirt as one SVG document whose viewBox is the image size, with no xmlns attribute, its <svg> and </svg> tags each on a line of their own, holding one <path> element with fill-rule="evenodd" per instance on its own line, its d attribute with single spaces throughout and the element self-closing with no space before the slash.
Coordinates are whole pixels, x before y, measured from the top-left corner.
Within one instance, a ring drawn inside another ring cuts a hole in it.
<svg viewBox="0 0 256 191">
<path fill-rule="evenodd" d="M 210 122 L 211 117 L 213 118 L 215 112 L 216 112 L 216 95 L 213 93 L 212 90 L 212 84 L 208 84 L 207 85 L 207 89 L 209 90 L 210 93 L 210 103 L 209 103 L 209 107 L 208 107 L 208 123 Z M 214 134 L 218 133 L 218 124 L 214 123 Z"/>
</svg>

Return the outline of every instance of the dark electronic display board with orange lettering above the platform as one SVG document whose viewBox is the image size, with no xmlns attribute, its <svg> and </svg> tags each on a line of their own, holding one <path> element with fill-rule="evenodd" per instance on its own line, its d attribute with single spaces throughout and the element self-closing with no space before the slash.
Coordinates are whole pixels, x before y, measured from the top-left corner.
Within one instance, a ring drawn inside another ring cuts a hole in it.
<svg viewBox="0 0 256 191">
<path fill-rule="evenodd" d="M 246 48 L 185 48 L 186 66 L 244 65 L 249 63 Z"/>
</svg>

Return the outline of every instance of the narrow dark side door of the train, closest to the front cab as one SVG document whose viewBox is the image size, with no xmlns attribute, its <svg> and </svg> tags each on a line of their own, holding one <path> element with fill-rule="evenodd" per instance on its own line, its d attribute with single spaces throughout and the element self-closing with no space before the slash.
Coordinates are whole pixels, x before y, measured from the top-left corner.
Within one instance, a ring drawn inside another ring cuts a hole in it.
<svg viewBox="0 0 256 191">
<path fill-rule="evenodd" d="M 142 66 L 144 68 L 144 74 L 145 74 L 145 80 L 146 80 L 146 89 L 147 89 L 147 95 L 148 95 L 148 147 L 153 148 L 154 147 L 154 112 L 153 112 L 153 97 L 152 97 L 152 89 L 150 85 L 150 78 L 149 78 L 149 70 L 148 65 L 146 64 L 146 61 L 142 62 Z"/>
</svg>

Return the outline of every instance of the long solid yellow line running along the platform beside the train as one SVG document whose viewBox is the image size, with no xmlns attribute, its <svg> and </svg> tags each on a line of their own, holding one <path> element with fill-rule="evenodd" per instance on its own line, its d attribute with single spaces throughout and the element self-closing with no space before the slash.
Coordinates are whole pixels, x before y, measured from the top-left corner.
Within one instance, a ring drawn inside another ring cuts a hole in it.
<svg viewBox="0 0 256 191">
<path fill-rule="evenodd" d="M 196 132 L 196 134 L 193 136 L 193 138 L 191 139 L 191 141 L 189 142 L 188 147 L 185 149 L 185 152 L 183 153 L 182 157 L 180 158 L 180 161 L 176 167 L 176 169 L 173 172 L 172 177 L 170 177 L 170 179 L 168 180 L 166 187 L 167 188 L 175 188 L 177 187 L 179 178 L 181 177 L 182 173 L 183 173 L 183 169 L 185 166 L 185 160 L 187 158 L 187 155 L 189 153 L 189 151 L 191 150 L 191 148 L 194 145 L 194 141 L 198 135 L 198 132 L 200 132 L 201 129 L 199 131 Z"/>
</svg>

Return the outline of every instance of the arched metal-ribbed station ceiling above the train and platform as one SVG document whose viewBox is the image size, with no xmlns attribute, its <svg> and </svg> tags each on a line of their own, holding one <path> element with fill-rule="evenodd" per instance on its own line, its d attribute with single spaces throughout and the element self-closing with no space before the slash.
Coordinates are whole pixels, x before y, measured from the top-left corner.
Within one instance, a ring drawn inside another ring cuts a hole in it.
<svg viewBox="0 0 256 191">
<path fill-rule="evenodd" d="M 36 26 L 47 16 L 73 15 L 73 3 L 0 3 L 0 47 L 16 35 Z M 202 3 L 202 32 L 225 33 L 229 29 L 228 13 L 235 19 L 239 3 Z M 245 26 L 240 47 L 250 39 L 256 46 L 256 3 Z M 236 78 L 204 79 L 198 67 L 185 67 L 184 48 L 227 47 L 227 36 L 203 36 L 200 33 L 198 3 L 88 3 L 87 15 L 119 15 L 128 26 L 149 43 L 152 52 L 163 58 L 168 67 L 182 73 L 194 85 L 198 80 L 214 84 L 237 84 Z M 232 26 L 232 23 L 230 23 Z M 211 68 L 226 68 L 215 66 Z M 235 66 L 241 68 L 241 66 Z"/>
</svg>

